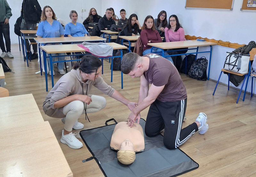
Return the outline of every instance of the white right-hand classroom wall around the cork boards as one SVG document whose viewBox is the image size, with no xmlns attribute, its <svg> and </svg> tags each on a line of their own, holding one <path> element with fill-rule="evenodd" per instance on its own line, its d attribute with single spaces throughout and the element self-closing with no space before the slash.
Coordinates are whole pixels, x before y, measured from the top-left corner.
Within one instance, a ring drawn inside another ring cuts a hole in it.
<svg viewBox="0 0 256 177">
<path fill-rule="evenodd" d="M 132 13 L 136 13 L 140 25 L 142 26 L 147 15 L 152 15 L 154 18 L 157 18 L 158 13 L 165 10 L 168 18 L 172 14 L 178 16 L 185 34 L 237 42 L 239 44 L 248 44 L 250 41 L 256 41 L 256 35 L 253 30 L 256 29 L 256 12 L 240 11 L 242 0 L 234 0 L 233 11 L 185 9 L 185 4 L 186 0 L 121 0 L 118 3 L 116 1 L 102 1 L 102 14 L 105 13 L 106 8 L 113 7 L 115 14 L 118 14 L 118 17 L 120 18 L 119 11 L 124 8 L 127 14 L 126 17 L 129 18 Z M 224 65 L 226 52 L 230 52 L 234 49 L 223 46 L 213 46 L 212 48 L 210 79 L 217 81 L 220 75 L 220 70 Z M 199 49 L 199 51 L 206 50 L 210 50 L 210 47 L 201 47 Z M 198 57 L 201 56 L 205 56 L 209 59 L 210 55 L 209 53 L 198 55 Z M 228 84 L 227 75 L 222 74 L 220 82 Z M 233 84 L 230 85 L 234 86 Z M 238 86 L 238 88 L 240 89 L 241 86 Z M 247 91 L 250 92 L 250 89 L 251 78 L 249 80 Z M 214 88 L 212 88 L 212 92 L 213 90 Z M 256 94 L 255 84 L 253 93 Z"/>
</svg>

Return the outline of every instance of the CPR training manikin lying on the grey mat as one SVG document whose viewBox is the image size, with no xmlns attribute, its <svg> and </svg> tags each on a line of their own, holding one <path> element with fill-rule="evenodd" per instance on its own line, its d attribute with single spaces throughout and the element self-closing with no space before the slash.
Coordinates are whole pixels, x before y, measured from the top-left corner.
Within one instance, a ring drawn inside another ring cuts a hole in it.
<svg viewBox="0 0 256 177">
<path fill-rule="evenodd" d="M 117 159 L 122 164 L 128 165 L 135 160 L 135 152 L 145 148 L 143 129 L 140 124 L 134 123 L 132 128 L 127 122 L 116 124 L 111 137 L 110 147 L 117 152 Z"/>
</svg>

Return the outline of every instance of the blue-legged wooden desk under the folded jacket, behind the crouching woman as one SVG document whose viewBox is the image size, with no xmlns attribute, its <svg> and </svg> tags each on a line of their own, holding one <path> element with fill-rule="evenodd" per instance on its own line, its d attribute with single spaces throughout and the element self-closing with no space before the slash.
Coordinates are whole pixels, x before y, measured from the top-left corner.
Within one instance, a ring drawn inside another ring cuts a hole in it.
<svg viewBox="0 0 256 177">
<path fill-rule="evenodd" d="M 113 76 L 113 58 L 116 57 L 121 57 L 123 56 L 123 51 L 122 49 L 125 49 L 126 47 L 120 44 L 117 44 L 115 42 L 109 42 L 107 43 L 108 45 L 113 47 L 113 50 L 120 49 L 121 55 L 120 56 L 113 56 L 111 58 L 111 82 L 112 82 L 112 76 Z M 46 53 L 49 54 L 50 61 L 52 61 L 52 55 L 54 53 L 66 53 L 66 52 L 84 52 L 84 49 L 77 46 L 76 44 L 67 44 L 67 45 L 47 45 L 47 46 L 40 46 L 40 48 L 43 50 L 44 53 L 44 68 L 46 69 Z M 75 54 L 76 56 L 78 55 L 84 55 L 84 54 Z M 103 58 L 109 58 L 109 57 L 100 57 L 102 61 L 102 74 L 103 74 Z M 55 61 L 52 63 L 59 63 L 59 62 L 72 62 L 72 61 L 80 61 L 81 59 L 76 59 L 76 60 L 65 60 L 65 61 Z M 52 71 L 52 64 L 51 66 L 51 72 Z M 51 76 L 52 79 L 52 87 L 54 86 L 53 82 L 53 75 Z M 46 92 L 48 92 L 48 79 L 47 79 L 47 72 L 45 72 L 45 84 L 46 84 Z M 123 73 L 121 72 L 121 88 L 123 89 Z"/>
</svg>

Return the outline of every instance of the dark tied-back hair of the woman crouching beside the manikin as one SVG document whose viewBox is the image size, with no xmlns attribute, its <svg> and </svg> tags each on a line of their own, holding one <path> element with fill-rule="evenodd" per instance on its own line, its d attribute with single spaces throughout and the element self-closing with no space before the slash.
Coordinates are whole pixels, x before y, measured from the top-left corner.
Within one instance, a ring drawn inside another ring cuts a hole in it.
<svg viewBox="0 0 256 177">
<path fill-rule="evenodd" d="M 102 65 L 100 59 L 94 55 L 84 55 L 80 63 L 75 63 L 73 69 L 80 69 L 86 74 L 97 71 L 97 69 Z"/>
</svg>

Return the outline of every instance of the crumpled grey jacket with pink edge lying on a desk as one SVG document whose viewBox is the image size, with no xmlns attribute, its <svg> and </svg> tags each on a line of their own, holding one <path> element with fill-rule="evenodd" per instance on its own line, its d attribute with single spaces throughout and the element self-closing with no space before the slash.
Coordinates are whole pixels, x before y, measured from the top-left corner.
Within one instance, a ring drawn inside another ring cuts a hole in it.
<svg viewBox="0 0 256 177">
<path fill-rule="evenodd" d="M 113 54 L 113 47 L 103 42 L 83 42 L 82 44 L 78 44 L 78 46 L 98 57 L 108 57 Z"/>
</svg>

